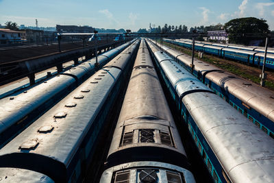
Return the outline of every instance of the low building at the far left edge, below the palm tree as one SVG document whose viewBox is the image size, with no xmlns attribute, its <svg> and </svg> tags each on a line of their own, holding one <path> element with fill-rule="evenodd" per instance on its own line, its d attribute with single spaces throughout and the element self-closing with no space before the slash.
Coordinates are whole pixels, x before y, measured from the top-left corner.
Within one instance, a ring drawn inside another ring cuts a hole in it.
<svg viewBox="0 0 274 183">
<path fill-rule="evenodd" d="M 0 45 L 10 45 L 22 42 L 22 32 L 11 29 L 0 29 Z"/>
</svg>

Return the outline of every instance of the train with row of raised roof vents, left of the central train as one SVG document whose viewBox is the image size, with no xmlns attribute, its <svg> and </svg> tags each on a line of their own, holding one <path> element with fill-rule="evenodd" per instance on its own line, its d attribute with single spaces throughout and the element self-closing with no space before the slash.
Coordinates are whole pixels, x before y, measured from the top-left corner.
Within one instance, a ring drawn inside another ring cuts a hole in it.
<svg viewBox="0 0 274 183">
<path fill-rule="evenodd" d="M 8 177 L 8 168 L 12 168 L 10 182 L 18 182 L 25 170 L 31 171 L 26 176 L 35 174 L 26 178 L 29 182 L 37 178 L 44 182 L 82 181 L 105 119 L 125 87 L 139 44 L 140 40 L 135 40 L 2 147 L 0 178 Z"/>
</svg>

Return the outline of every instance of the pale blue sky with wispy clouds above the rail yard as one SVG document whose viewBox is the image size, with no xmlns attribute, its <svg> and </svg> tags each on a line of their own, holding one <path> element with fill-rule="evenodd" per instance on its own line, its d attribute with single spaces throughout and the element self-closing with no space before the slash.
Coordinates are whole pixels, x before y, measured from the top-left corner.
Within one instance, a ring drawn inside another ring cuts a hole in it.
<svg viewBox="0 0 274 183">
<path fill-rule="evenodd" d="M 253 16 L 274 30 L 274 0 L 0 0 L 0 23 L 55 27 L 90 25 L 105 29 L 149 28 L 151 25 L 216 25 Z"/>
</svg>

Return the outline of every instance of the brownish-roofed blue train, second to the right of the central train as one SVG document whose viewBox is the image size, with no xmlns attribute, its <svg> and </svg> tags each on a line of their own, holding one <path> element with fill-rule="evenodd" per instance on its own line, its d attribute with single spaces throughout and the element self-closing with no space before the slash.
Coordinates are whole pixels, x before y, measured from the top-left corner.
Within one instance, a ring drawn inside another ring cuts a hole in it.
<svg viewBox="0 0 274 183">
<path fill-rule="evenodd" d="M 163 46 L 162 49 L 191 72 L 191 57 Z M 223 69 L 194 59 L 193 75 L 227 101 L 263 132 L 274 138 L 274 93 Z"/>
</svg>

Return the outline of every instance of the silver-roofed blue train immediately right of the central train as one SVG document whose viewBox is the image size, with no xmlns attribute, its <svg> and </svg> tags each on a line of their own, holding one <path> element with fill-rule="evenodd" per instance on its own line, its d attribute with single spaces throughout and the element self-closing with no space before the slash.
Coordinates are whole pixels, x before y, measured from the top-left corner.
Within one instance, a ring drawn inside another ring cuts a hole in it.
<svg viewBox="0 0 274 183">
<path fill-rule="evenodd" d="M 147 40 L 173 107 L 214 182 L 274 182 L 274 141 Z"/>
</svg>

